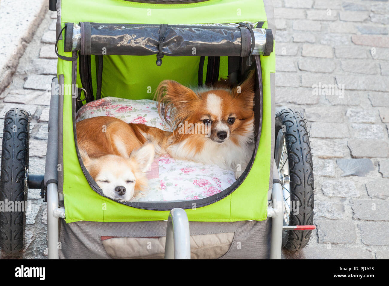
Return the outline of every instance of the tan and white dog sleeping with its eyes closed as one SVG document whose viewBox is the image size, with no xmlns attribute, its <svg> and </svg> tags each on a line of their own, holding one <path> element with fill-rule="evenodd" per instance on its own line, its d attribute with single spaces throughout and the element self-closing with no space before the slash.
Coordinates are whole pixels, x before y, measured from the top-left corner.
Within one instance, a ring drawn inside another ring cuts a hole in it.
<svg viewBox="0 0 389 286">
<path fill-rule="evenodd" d="M 142 135 L 141 129 L 147 126 L 100 116 L 84 119 L 76 128 L 82 162 L 104 195 L 130 201 L 147 187 L 145 173 L 155 153 L 154 145 L 147 144 Z M 164 131 L 155 129 L 163 137 Z"/>
</svg>

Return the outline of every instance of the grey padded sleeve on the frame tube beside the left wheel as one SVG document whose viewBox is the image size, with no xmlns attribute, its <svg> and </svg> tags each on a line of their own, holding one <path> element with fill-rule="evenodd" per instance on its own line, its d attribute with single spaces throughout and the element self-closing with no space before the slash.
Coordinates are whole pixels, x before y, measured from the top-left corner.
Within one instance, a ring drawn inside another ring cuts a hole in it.
<svg viewBox="0 0 389 286">
<path fill-rule="evenodd" d="M 52 80 L 52 90 L 50 98 L 50 112 L 49 112 L 49 124 L 47 136 L 47 149 L 46 149 L 46 165 L 45 165 L 45 186 L 47 181 L 58 181 L 58 78 L 54 77 Z M 54 88 L 54 90 L 53 90 Z"/>
</svg>

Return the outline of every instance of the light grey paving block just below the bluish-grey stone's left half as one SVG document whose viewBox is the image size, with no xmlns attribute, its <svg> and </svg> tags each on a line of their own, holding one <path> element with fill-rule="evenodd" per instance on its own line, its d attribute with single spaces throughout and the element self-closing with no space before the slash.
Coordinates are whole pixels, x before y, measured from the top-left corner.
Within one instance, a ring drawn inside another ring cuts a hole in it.
<svg viewBox="0 0 389 286">
<path fill-rule="evenodd" d="M 327 197 L 357 198 L 361 193 L 357 189 L 354 181 L 324 181 L 321 190 Z"/>
</svg>

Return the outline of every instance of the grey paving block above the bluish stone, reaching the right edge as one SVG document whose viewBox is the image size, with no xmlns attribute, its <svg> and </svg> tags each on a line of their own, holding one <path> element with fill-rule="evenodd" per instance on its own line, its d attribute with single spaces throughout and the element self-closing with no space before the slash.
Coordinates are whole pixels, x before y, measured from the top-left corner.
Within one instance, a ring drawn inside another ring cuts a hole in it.
<svg viewBox="0 0 389 286">
<path fill-rule="evenodd" d="M 349 139 L 347 146 L 350 148 L 352 158 L 386 158 L 389 156 L 388 143 L 383 140 Z"/>
</svg>

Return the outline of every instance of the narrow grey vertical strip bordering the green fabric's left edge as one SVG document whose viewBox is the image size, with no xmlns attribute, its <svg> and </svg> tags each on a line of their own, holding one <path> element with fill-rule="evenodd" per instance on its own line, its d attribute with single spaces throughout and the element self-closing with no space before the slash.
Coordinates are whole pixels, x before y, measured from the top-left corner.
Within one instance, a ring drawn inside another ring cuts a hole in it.
<svg viewBox="0 0 389 286">
<path fill-rule="evenodd" d="M 58 75 L 58 84 L 60 87 L 65 84 L 63 74 Z M 63 191 L 63 88 L 59 88 L 58 95 L 58 164 L 61 171 L 58 172 L 58 193 Z"/>
</svg>

